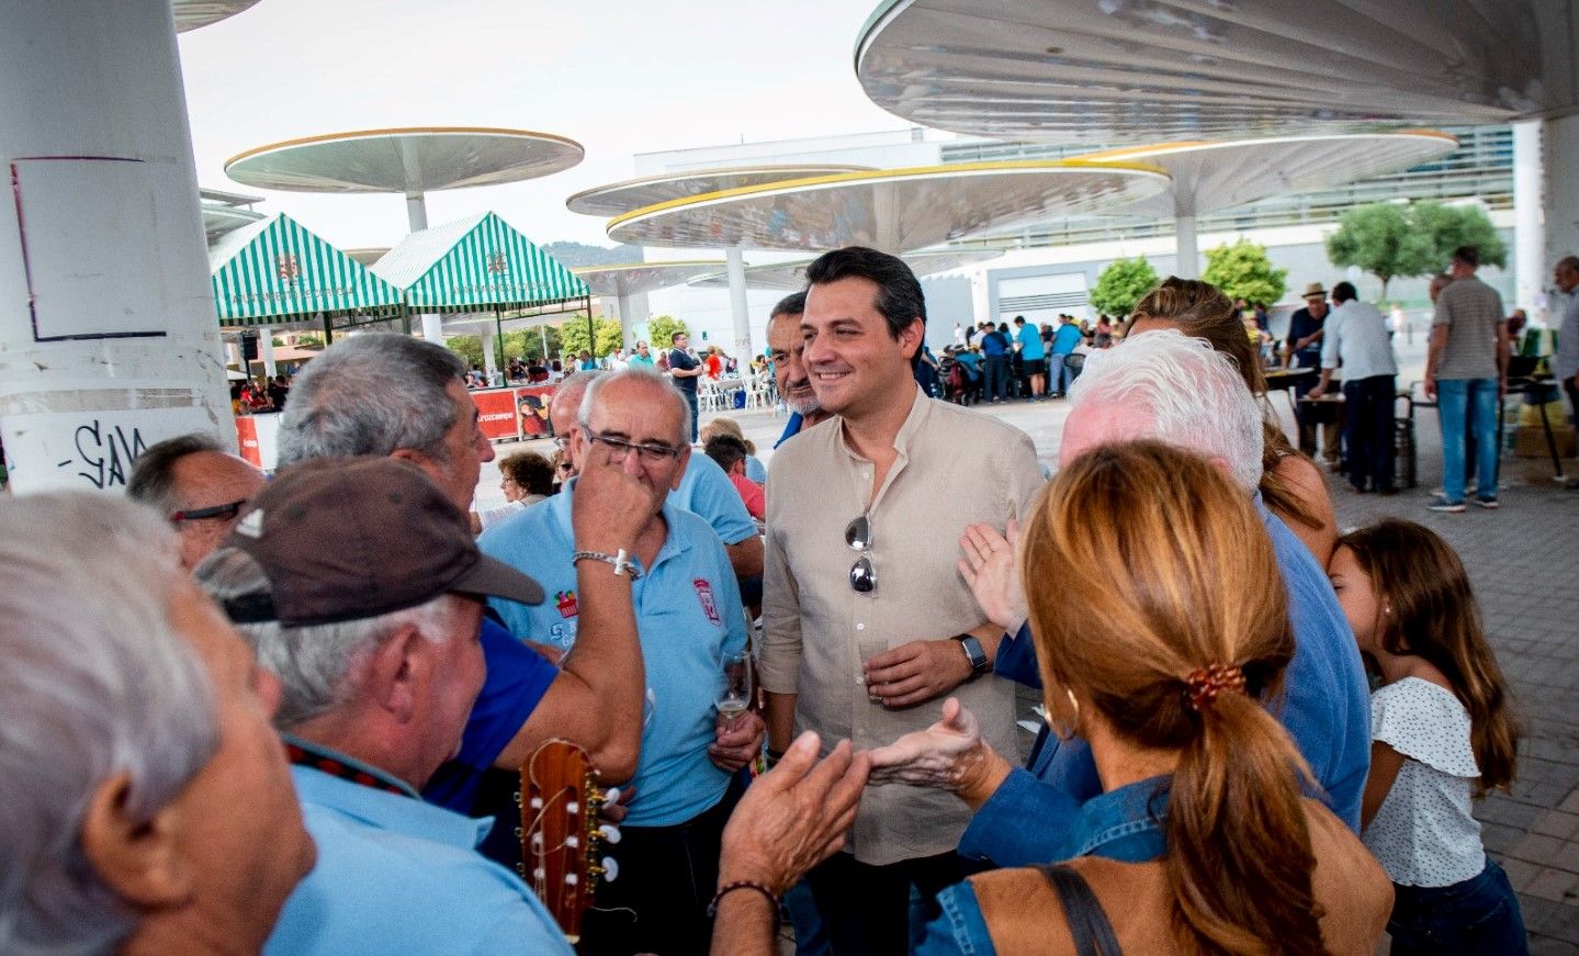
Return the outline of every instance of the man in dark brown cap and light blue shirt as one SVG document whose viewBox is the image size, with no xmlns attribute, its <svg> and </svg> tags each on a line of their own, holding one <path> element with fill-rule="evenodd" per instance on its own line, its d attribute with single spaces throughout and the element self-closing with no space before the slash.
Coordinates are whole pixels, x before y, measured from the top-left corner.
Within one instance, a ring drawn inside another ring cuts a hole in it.
<svg viewBox="0 0 1579 956">
<path fill-rule="evenodd" d="M 197 580 L 279 676 L 275 725 L 319 850 L 265 950 L 568 953 L 474 852 L 491 820 L 417 793 L 482 687 L 483 599 L 535 604 L 542 586 L 483 556 L 420 469 L 374 457 L 284 469 Z"/>
</svg>

